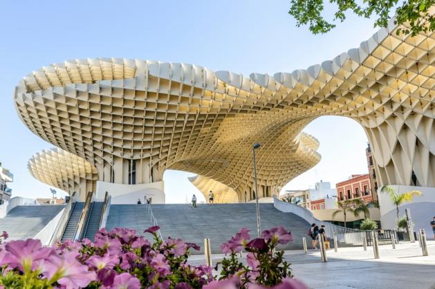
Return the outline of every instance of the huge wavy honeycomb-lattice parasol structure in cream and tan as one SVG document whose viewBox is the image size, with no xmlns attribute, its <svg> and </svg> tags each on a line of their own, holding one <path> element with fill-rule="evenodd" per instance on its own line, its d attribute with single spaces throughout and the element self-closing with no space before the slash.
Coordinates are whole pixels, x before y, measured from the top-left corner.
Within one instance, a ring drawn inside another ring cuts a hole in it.
<svg viewBox="0 0 435 289">
<path fill-rule="evenodd" d="M 357 121 L 380 184 L 435 187 L 435 35 L 390 25 L 332 60 L 248 76 L 140 59 L 75 59 L 44 66 L 15 89 L 17 113 L 56 148 L 29 161 L 66 192 L 163 192 L 165 169 L 221 203 L 275 196 L 320 161 L 302 132 L 322 115 Z M 335 129 L 332 128 L 331 129 Z M 57 168 L 57 169 L 56 169 Z M 164 201 L 164 199 L 163 199 Z"/>
</svg>

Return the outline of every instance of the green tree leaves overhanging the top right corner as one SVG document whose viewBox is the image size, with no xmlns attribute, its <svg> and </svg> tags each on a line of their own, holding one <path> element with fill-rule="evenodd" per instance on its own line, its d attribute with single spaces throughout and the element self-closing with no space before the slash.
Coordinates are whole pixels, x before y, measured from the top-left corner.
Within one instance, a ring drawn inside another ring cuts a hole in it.
<svg viewBox="0 0 435 289">
<path fill-rule="evenodd" d="M 405 0 L 401 5 L 398 0 L 329 0 L 328 3 L 336 5 L 333 21 L 327 21 L 322 16 L 324 0 L 290 0 L 288 13 L 295 17 L 297 27 L 308 25 L 314 34 L 326 33 L 335 28 L 336 24 L 333 22 L 344 21 L 347 12 L 359 17 L 377 17 L 375 27 L 387 27 L 390 15 L 394 12 L 394 24 L 409 25 L 398 28 L 398 35 L 410 33 L 415 36 L 420 32 L 435 30 L 435 17 L 429 12 L 435 0 Z"/>
</svg>

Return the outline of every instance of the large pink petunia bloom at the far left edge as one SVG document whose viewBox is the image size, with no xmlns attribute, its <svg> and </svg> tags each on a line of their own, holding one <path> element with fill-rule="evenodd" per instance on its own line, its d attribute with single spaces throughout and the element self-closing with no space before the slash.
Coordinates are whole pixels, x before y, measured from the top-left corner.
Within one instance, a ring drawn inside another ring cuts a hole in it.
<svg viewBox="0 0 435 289">
<path fill-rule="evenodd" d="M 5 248 L 6 254 L 1 260 L 0 266 L 8 264 L 9 267 L 19 267 L 24 272 L 36 270 L 39 261 L 54 253 L 52 248 L 43 248 L 41 241 L 33 239 L 10 241 L 6 243 Z"/>
</svg>

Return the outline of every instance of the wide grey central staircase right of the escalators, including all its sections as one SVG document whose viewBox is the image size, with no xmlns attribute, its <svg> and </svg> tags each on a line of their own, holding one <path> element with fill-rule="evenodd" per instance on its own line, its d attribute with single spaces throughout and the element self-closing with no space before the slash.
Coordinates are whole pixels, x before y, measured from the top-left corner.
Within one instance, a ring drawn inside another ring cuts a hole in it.
<svg viewBox="0 0 435 289">
<path fill-rule="evenodd" d="M 151 205 L 154 216 L 160 225 L 163 238 L 181 238 L 201 246 L 205 238 L 210 238 L 212 252 L 221 252 L 221 243 L 228 241 L 242 227 L 251 230 L 252 237 L 257 235 L 257 215 L 255 204 L 198 205 Z M 271 227 L 283 226 L 293 234 L 294 241 L 282 245 L 283 250 L 302 249 L 302 237 L 310 225 L 299 216 L 279 212 L 273 204 L 260 204 L 261 231 Z M 129 227 L 143 234 L 151 226 L 145 205 L 111 205 L 107 220 L 107 230 L 113 227 Z M 196 252 L 195 252 L 196 253 Z"/>
</svg>

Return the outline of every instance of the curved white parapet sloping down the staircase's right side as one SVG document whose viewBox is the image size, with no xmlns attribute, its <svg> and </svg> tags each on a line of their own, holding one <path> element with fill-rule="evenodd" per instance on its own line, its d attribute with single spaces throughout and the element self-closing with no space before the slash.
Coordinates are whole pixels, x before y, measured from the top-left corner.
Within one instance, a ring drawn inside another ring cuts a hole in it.
<svg viewBox="0 0 435 289">
<path fill-rule="evenodd" d="M 315 223 L 316 225 L 324 225 L 326 228 L 326 236 L 333 238 L 333 236 L 337 236 L 337 241 L 340 243 L 348 243 L 352 245 L 362 245 L 363 235 L 365 231 L 358 229 L 351 229 L 348 227 L 342 227 L 339 225 L 333 225 L 328 222 L 321 221 L 313 215 L 308 209 L 294 205 L 292 203 L 287 203 L 279 200 L 276 196 L 273 201 L 274 207 L 278 209 L 279 205 L 288 205 L 285 211 L 280 210 L 281 212 L 293 213 L 301 218 L 303 218 L 308 223 Z"/>
</svg>

